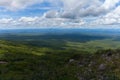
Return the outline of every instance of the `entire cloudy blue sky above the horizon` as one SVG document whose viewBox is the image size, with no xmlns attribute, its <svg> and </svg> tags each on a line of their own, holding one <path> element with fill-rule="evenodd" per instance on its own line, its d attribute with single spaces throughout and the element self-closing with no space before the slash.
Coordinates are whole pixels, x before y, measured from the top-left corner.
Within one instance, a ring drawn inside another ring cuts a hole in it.
<svg viewBox="0 0 120 80">
<path fill-rule="evenodd" d="M 0 0 L 0 29 L 120 28 L 120 0 Z"/>
</svg>

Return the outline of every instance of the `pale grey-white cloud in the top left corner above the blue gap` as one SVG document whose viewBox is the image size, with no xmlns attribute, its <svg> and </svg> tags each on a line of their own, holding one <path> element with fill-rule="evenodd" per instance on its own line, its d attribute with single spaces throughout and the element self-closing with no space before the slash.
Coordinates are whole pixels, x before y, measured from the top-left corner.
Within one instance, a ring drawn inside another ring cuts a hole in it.
<svg viewBox="0 0 120 80">
<path fill-rule="evenodd" d="M 8 10 L 24 9 L 27 6 L 41 3 L 43 0 L 0 0 L 0 6 Z"/>
</svg>

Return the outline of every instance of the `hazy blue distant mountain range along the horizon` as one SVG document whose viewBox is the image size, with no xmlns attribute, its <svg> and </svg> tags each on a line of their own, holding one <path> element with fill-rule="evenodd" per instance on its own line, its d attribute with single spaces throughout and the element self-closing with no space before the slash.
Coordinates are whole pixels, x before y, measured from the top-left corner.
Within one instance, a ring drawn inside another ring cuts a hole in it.
<svg viewBox="0 0 120 80">
<path fill-rule="evenodd" d="M 4 29 L 0 34 L 96 34 L 96 35 L 119 35 L 116 29 Z"/>
</svg>

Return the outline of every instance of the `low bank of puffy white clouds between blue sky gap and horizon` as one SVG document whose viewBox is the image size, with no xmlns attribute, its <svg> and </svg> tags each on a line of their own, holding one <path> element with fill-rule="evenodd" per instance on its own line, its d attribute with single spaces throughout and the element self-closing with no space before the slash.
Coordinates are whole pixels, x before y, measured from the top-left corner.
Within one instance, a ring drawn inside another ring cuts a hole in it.
<svg viewBox="0 0 120 80">
<path fill-rule="evenodd" d="M 1 27 L 11 27 L 14 28 L 45 28 L 45 27 L 60 27 L 60 28 L 70 28 L 70 27 L 80 27 L 84 25 L 85 21 L 82 19 L 63 19 L 63 18 L 46 18 L 46 17 L 21 17 L 19 19 L 0 19 Z M 8 25 L 9 24 L 9 25 Z"/>
</svg>

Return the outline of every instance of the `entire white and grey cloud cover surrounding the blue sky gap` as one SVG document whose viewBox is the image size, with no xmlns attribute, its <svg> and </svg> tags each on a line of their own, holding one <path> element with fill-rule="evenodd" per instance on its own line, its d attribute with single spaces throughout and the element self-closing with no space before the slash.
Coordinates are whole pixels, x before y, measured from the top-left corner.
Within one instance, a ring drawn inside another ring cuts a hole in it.
<svg viewBox="0 0 120 80">
<path fill-rule="evenodd" d="M 16 11 L 47 2 L 59 9 L 48 9 L 42 16 L 0 19 L 1 26 L 81 27 L 120 24 L 120 0 L 1 0 L 0 7 Z M 91 19 L 88 19 L 91 18 Z M 93 19 L 95 18 L 95 19 Z M 8 25 L 9 24 L 9 25 Z"/>
</svg>

